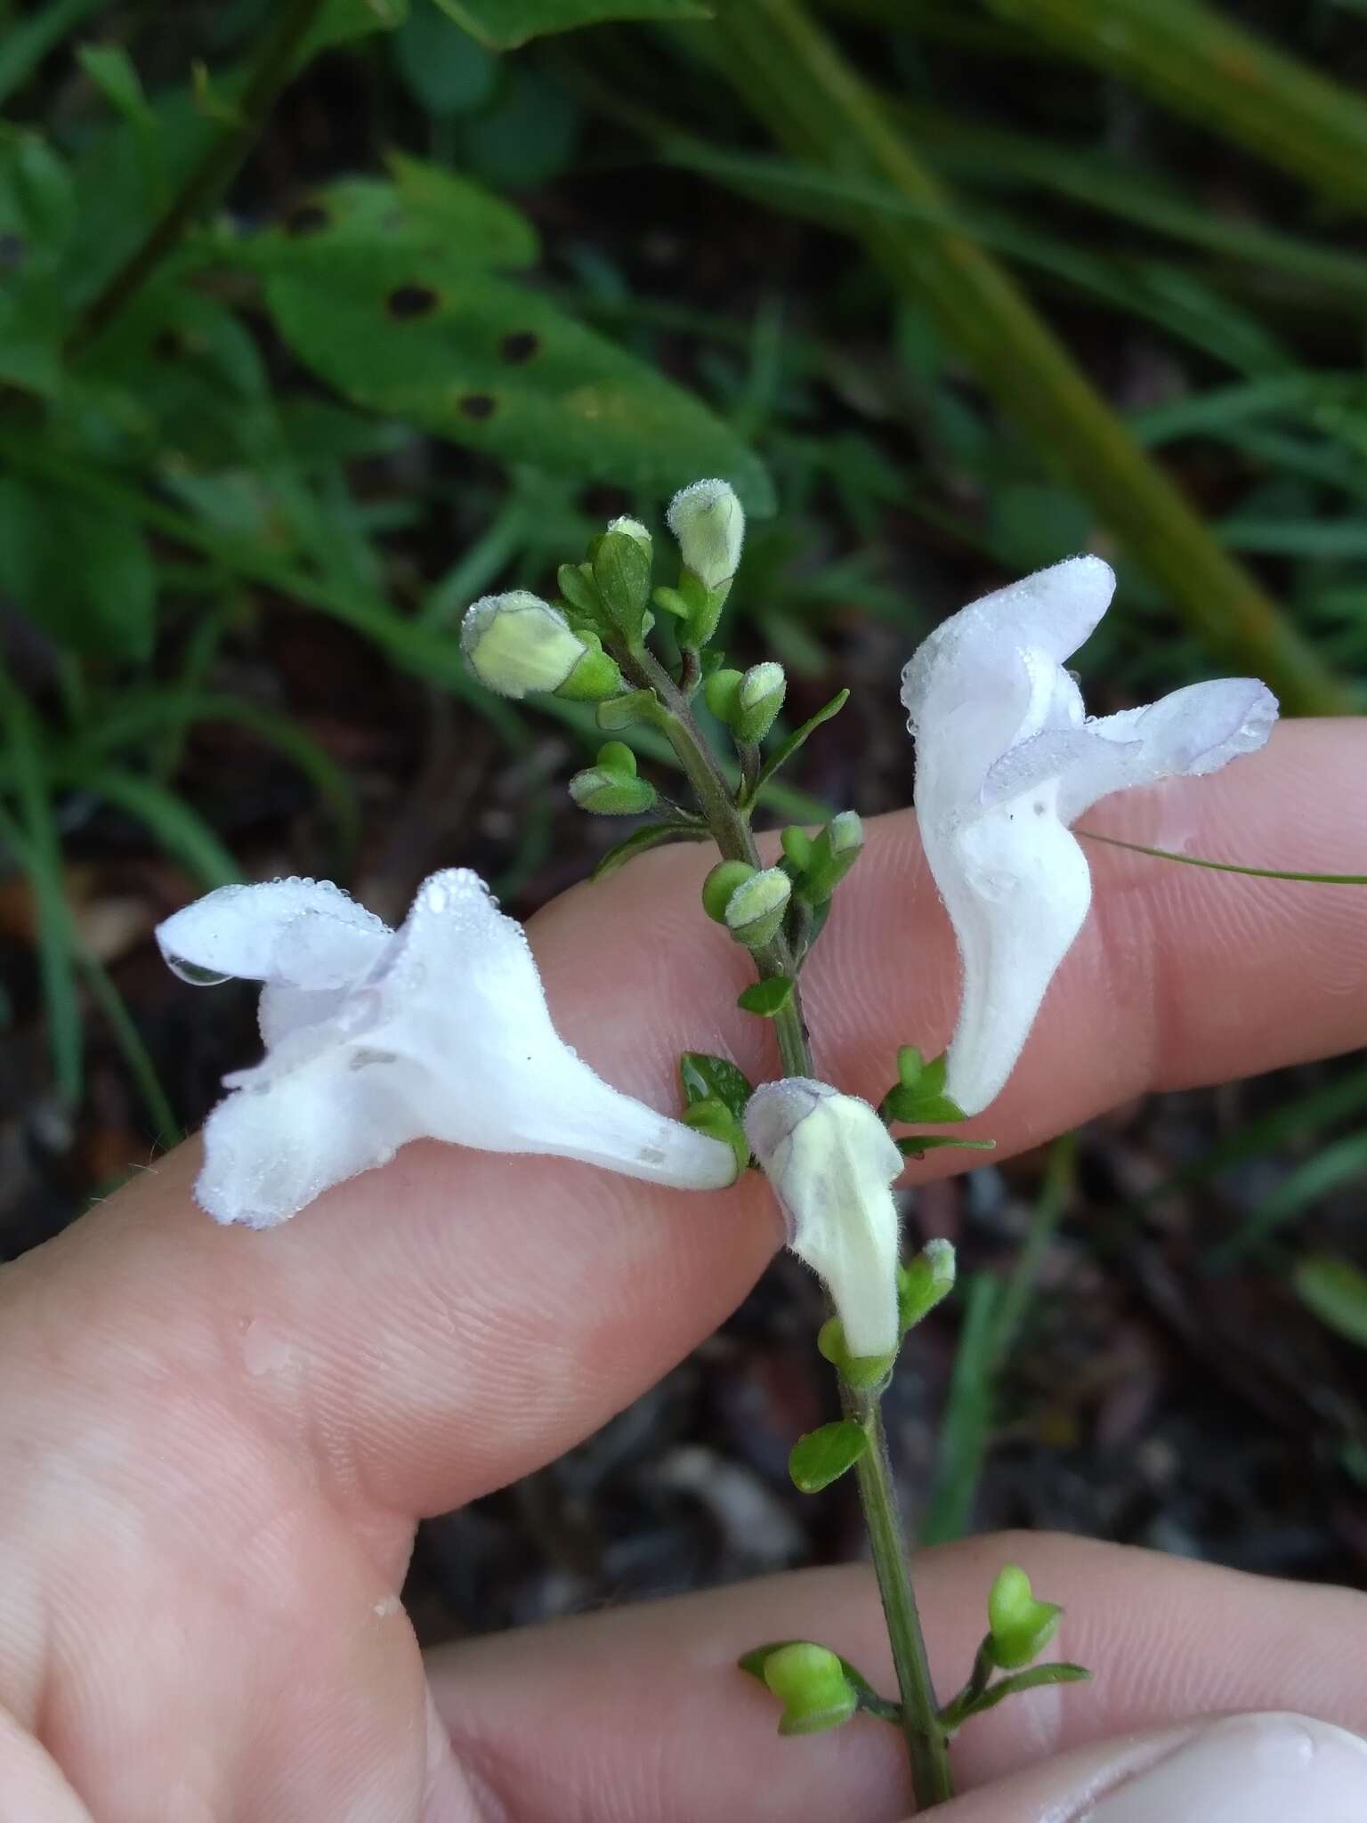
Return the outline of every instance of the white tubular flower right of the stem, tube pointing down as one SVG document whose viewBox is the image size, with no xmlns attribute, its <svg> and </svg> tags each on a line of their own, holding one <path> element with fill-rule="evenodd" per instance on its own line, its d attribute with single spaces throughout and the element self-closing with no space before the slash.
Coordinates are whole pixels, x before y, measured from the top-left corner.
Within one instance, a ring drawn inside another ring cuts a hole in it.
<svg viewBox="0 0 1367 1823">
<path fill-rule="evenodd" d="M 1063 660 L 1114 587 L 1101 558 L 1068 558 L 953 614 L 902 673 L 920 839 L 964 970 L 944 1087 L 968 1114 L 1012 1074 L 1092 902 L 1068 824 L 1112 791 L 1254 753 L 1276 722 L 1256 678 L 1088 720 Z"/>
</svg>

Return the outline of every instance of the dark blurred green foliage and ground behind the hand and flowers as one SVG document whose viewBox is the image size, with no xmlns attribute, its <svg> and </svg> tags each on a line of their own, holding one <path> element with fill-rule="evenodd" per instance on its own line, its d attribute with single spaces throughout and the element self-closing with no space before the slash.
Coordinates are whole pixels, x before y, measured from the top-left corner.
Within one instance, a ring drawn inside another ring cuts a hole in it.
<svg viewBox="0 0 1367 1823">
<path fill-rule="evenodd" d="M 787 815 L 904 802 L 900 660 L 1083 547 L 1099 709 L 1230 664 L 1358 706 L 1360 0 L 707 11 L 0 4 L 7 1251 L 250 1048 L 151 955 L 195 888 L 587 871 L 591 716 L 485 696 L 454 629 L 700 474 L 751 512 L 735 653 L 793 726 L 858 693 Z M 977 1265 L 900 1391 L 928 1528 L 1360 1577 L 1363 1103 L 1289 1072 L 928 1196 Z M 432 1630 L 838 1550 L 780 1491 L 806 1294 L 434 1528 Z"/>
</svg>

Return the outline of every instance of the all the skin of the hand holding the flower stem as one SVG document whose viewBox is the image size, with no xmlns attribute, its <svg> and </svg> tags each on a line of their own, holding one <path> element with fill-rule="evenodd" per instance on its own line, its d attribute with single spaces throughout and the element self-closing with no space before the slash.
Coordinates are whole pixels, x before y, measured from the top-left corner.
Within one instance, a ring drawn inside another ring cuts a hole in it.
<svg viewBox="0 0 1367 1823">
<path fill-rule="evenodd" d="M 1086 820 L 1216 859 L 1354 871 L 1365 764 L 1367 727 L 1289 726 L 1214 778 Z M 975 1123 L 1004 1152 L 1148 1088 L 1367 1043 L 1352 888 L 1090 853 L 1094 913 Z M 694 850 L 647 857 L 532 930 L 561 1032 L 656 1107 L 674 1105 L 684 1046 L 773 1074 L 767 1032 L 733 1010 L 745 959 L 696 906 L 704 864 Z M 594 979 L 603 932 L 611 992 Z M 877 1096 L 899 1043 L 940 1048 L 953 1001 L 915 826 L 889 817 L 811 964 L 817 1066 Z M 953 1167 L 933 1154 L 915 1170 Z M 0 1823 L 910 1810 L 889 1728 L 780 1741 L 773 1703 L 731 1670 L 762 1639 L 807 1633 L 886 1683 L 860 1568 L 479 1641 L 427 1668 L 397 1602 L 421 1515 L 556 1457 L 744 1296 L 778 1243 L 753 1174 L 687 1196 L 416 1145 L 250 1234 L 193 1207 L 195 1169 L 191 1143 L 0 1272 Z M 981 1539 L 920 1559 L 946 1683 L 1008 1559 L 1066 1602 L 1059 1652 L 1097 1681 L 973 1723 L 946 1823 L 1077 1814 L 1059 1781 L 1161 1752 L 1097 1743 L 1199 1714 L 1290 1708 L 1367 1728 L 1362 1597 L 1084 1540 Z"/>
</svg>

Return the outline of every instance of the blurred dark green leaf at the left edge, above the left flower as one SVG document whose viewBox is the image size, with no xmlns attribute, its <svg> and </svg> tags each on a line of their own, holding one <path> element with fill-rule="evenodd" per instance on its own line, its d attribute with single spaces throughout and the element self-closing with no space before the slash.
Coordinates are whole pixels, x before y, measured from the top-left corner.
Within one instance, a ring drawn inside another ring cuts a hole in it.
<svg viewBox="0 0 1367 1823">
<path fill-rule="evenodd" d="M 97 658 L 151 654 L 148 545 L 102 503 L 0 479 L 0 589 L 58 645 Z"/>
</svg>

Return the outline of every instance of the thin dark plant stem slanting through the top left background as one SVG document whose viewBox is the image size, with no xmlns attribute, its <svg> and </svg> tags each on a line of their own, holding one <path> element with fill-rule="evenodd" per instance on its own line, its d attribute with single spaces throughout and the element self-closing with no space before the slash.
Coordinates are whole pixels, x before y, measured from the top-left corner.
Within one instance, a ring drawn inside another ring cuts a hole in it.
<svg viewBox="0 0 1367 1823">
<path fill-rule="evenodd" d="M 231 120 L 208 144 L 202 159 L 171 197 L 164 213 L 151 224 L 142 242 L 133 248 L 104 290 L 86 306 L 71 332 L 67 352 L 84 348 L 87 341 L 113 323 L 120 310 L 137 297 L 166 255 L 175 250 L 180 235 L 195 217 L 215 202 L 233 180 L 239 166 L 252 151 L 261 128 L 266 124 L 266 117 L 275 106 L 281 89 L 293 77 L 299 51 L 324 4 L 326 0 L 290 0 L 281 9 L 275 26 L 262 38 L 257 62 L 233 109 Z"/>
</svg>

